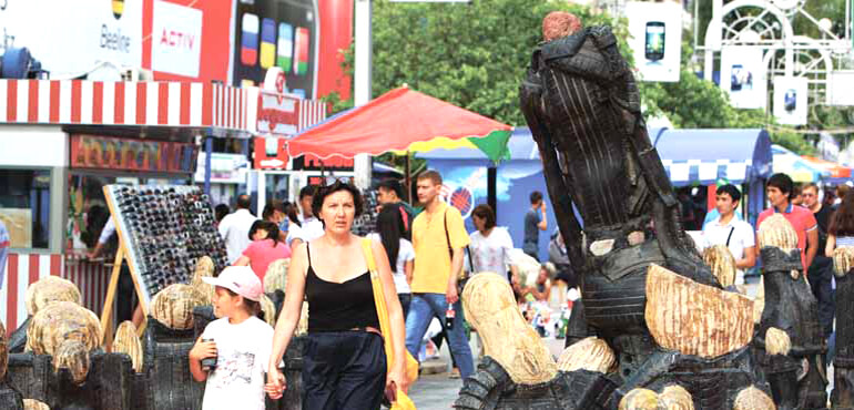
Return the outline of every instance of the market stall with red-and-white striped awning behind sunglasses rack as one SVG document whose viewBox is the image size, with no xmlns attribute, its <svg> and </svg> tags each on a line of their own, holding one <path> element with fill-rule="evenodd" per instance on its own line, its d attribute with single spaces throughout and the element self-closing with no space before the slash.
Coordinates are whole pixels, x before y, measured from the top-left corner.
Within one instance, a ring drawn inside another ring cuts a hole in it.
<svg viewBox="0 0 854 410">
<path fill-rule="evenodd" d="M 109 217 L 102 187 L 192 184 L 202 145 L 210 186 L 211 139 L 255 135 L 260 94 L 213 83 L 0 80 L 7 329 L 26 319 L 27 287 L 49 275 L 75 283 L 100 315 L 112 259 L 85 255 Z"/>
</svg>

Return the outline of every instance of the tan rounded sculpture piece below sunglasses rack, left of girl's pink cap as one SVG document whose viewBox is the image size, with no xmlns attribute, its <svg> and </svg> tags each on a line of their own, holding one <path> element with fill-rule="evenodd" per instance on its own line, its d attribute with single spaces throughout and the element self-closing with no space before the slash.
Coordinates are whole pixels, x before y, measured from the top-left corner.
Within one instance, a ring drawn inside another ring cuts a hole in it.
<svg viewBox="0 0 854 410">
<path fill-rule="evenodd" d="M 174 284 L 154 295 L 151 316 L 170 329 L 193 328 L 193 308 L 205 304 L 205 296 L 195 287 Z"/>
</svg>

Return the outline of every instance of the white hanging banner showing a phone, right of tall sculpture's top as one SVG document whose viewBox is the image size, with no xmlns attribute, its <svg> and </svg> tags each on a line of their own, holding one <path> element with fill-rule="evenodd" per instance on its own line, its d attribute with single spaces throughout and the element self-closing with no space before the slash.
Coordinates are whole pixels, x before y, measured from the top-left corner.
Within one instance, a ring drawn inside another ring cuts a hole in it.
<svg viewBox="0 0 854 410">
<path fill-rule="evenodd" d="M 682 7 L 629 1 L 629 47 L 641 81 L 678 82 L 682 55 Z"/>
</svg>

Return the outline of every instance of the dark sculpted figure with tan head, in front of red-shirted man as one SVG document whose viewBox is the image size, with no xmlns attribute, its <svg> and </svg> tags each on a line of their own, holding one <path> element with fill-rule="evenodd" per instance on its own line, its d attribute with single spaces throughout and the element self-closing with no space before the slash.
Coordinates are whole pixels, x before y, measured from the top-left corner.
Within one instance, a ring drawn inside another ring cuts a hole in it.
<svg viewBox="0 0 854 410">
<path fill-rule="evenodd" d="M 797 234 L 775 213 L 759 227 L 765 307 L 753 340 L 758 368 L 780 409 L 827 402 L 817 304 L 803 275 Z"/>
</svg>

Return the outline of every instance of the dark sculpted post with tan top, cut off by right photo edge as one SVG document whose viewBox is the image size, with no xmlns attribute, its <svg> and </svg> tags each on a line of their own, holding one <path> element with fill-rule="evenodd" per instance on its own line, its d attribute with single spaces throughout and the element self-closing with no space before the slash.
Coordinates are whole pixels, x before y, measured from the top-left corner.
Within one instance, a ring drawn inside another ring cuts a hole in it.
<svg viewBox="0 0 854 410">
<path fill-rule="evenodd" d="M 836 355 L 833 358 L 834 409 L 854 408 L 854 247 L 842 246 L 833 252 L 836 277 Z"/>
</svg>

